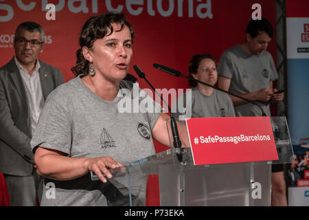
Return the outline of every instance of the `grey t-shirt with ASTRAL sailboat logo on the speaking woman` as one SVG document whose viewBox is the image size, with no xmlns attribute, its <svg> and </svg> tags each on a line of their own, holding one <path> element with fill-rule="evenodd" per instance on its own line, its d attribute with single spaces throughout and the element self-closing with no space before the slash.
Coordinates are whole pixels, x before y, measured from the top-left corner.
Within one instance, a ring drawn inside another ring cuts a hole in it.
<svg viewBox="0 0 309 220">
<path fill-rule="evenodd" d="M 137 84 L 124 80 L 120 88 L 141 91 Z M 124 96 L 122 91 L 119 89 L 112 101 L 102 100 L 84 85 L 80 76 L 55 89 L 47 98 L 32 137 L 33 151 L 41 146 L 68 157 L 110 156 L 122 164 L 155 154 L 151 131 L 159 113 L 119 112 L 119 103 L 124 98 L 131 101 L 132 108 L 136 98 L 133 93 L 131 97 Z M 138 98 L 135 104 L 149 96 Z M 56 187 L 54 198 L 46 195 L 50 186 Z M 106 206 L 104 195 L 109 188 L 113 187 L 91 181 L 90 174 L 69 181 L 45 179 L 41 205 Z"/>
</svg>

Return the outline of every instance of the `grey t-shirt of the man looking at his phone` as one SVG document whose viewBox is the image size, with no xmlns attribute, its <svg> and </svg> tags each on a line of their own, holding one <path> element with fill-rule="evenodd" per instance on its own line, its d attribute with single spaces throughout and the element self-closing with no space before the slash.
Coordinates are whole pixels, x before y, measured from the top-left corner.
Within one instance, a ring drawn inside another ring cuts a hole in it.
<svg viewBox="0 0 309 220">
<path fill-rule="evenodd" d="M 269 83 L 278 78 L 271 54 L 263 51 L 260 55 L 249 55 L 242 45 L 231 47 L 222 54 L 218 64 L 218 75 L 231 79 L 229 91 L 233 94 L 247 94 L 269 88 Z M 258 104 L 266 115 L 271 115 L 267 102 Z M 262 116 L 261 110 L 251 103 L 236 106 L 235 112 L 237 116 Z"/>
</svg>

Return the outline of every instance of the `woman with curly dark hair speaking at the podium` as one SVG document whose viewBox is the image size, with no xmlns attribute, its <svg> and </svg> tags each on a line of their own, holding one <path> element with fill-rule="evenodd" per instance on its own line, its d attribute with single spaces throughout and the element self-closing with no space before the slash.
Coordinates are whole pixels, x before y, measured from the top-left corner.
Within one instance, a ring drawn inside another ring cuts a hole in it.
<svg viewBox="0 0 309 220">
<path fill-rule="evenodd" d="M 119 111 L 124 91 L 136 86 L 122 80 L 133 36 L 124 14 L 108 12 L 84 23 L 72 68 L 76 78 L 47 98 L 32 139 L 38 173 L 45 177 L 42 206 L 106 206 L 110 188 L 102 182 L 112 177 L 109 169 L 155 154 L 152 138 L 170 145 L 168 115 Z M 90 171 L 101 181 L 91 181 Z"/>
</svg>

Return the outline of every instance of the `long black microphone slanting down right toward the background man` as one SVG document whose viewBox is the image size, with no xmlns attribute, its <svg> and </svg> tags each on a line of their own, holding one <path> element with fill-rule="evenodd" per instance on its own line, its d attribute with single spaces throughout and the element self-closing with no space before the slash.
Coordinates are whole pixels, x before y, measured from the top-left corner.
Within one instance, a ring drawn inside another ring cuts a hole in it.
<svg viewBox="0 0 309 220">
<path fill-rule="evenodd" d="M 231 96 L 235 96 L 235 97 L 237 97 L 237 98 L 240 98 L 240 99 L 242 99 L 242 100 L 245 100 L 245 101 L 247 101 L 247 102 L 250 102 L 250 103 L 252 103 L 252 104 L 255 104 L 255 105 L 256 105 L 257 107 L 259 107 L 260 110 L 262 111 L 262 116 L 266 116 L 266 113 L 264 112 L 264 110 L 262 109 L 262 107 L 260 106 L 260 104 L 256 103 L 256 102 L 253 101 L 253 100 L 249 100 L 249 99 L 247 99 L 247 98 L 243 98 L 243 97 L 241 97 L 241 96 L 238 96 L 238 95 L 236 95 L 236 94 L 233 94 L 231 91 L 225 91 L 224 89 L 220 89 L 220 88 L 215 87 L 215 86 L 213 86 L 213 85 L 209 85 L 208 83 L 204 83 L 204 82 L 202 82 L 202 81 L 200 81 L 200 80 L 196 80 L 196 79 L 193 78 L 193 77 L 190 78 L 189 76 L 185 76 L 184 74 L 181 74 L 181 72 L 179 72 L 179 71 L 176 70 L 176 69 L 172 69 L 172 68 L 170 68 L 170 67 L 165 67 L 165 66 L 159 65 L 159 64 L 157 64 L 157 63 L 154 63 L 153 66 L 154 66 L 155 68 L 160 69 L 161 71 L 163 71 L 163 72 L 165 72 L 165 73 L 168 73 L 168 74 L 171 74 L 171 75 L 173 75 L 173 76 L 177 76 L 177 77 L 182 76 L 182 77 L 184 77 L 184 78 L 187 78 L 187 79 L 190 79 L 190 80 L 194 80 L 196 83 L 201 83 L 201 84 L 203 84 L 203 85 L 207 85 L 207 87 L 211 87 L 211 88 L 217 89 L 217 90 L 219 90 L 219 91 L 223 91 L 223 92 L 225 92 L 226 94 L 230 94 Z"/>
</svg>

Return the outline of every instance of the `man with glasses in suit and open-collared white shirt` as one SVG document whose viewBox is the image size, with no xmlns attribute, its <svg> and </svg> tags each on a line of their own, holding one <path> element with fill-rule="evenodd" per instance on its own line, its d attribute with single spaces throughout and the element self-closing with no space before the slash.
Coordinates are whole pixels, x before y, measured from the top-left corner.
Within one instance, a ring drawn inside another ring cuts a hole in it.
<svg viewBox="0 0 309 220">
<path fill-rule="evenodd" d="M 59 69 L 38 60 L 44 41 L 41 25 L 21 23 L 15 56 L 0 68 L 0 173 L 10 206 L 36 206 L 36 197 L 41 197 L 30 140 L 45 99 L 64 81 Z"/>
</svg>

